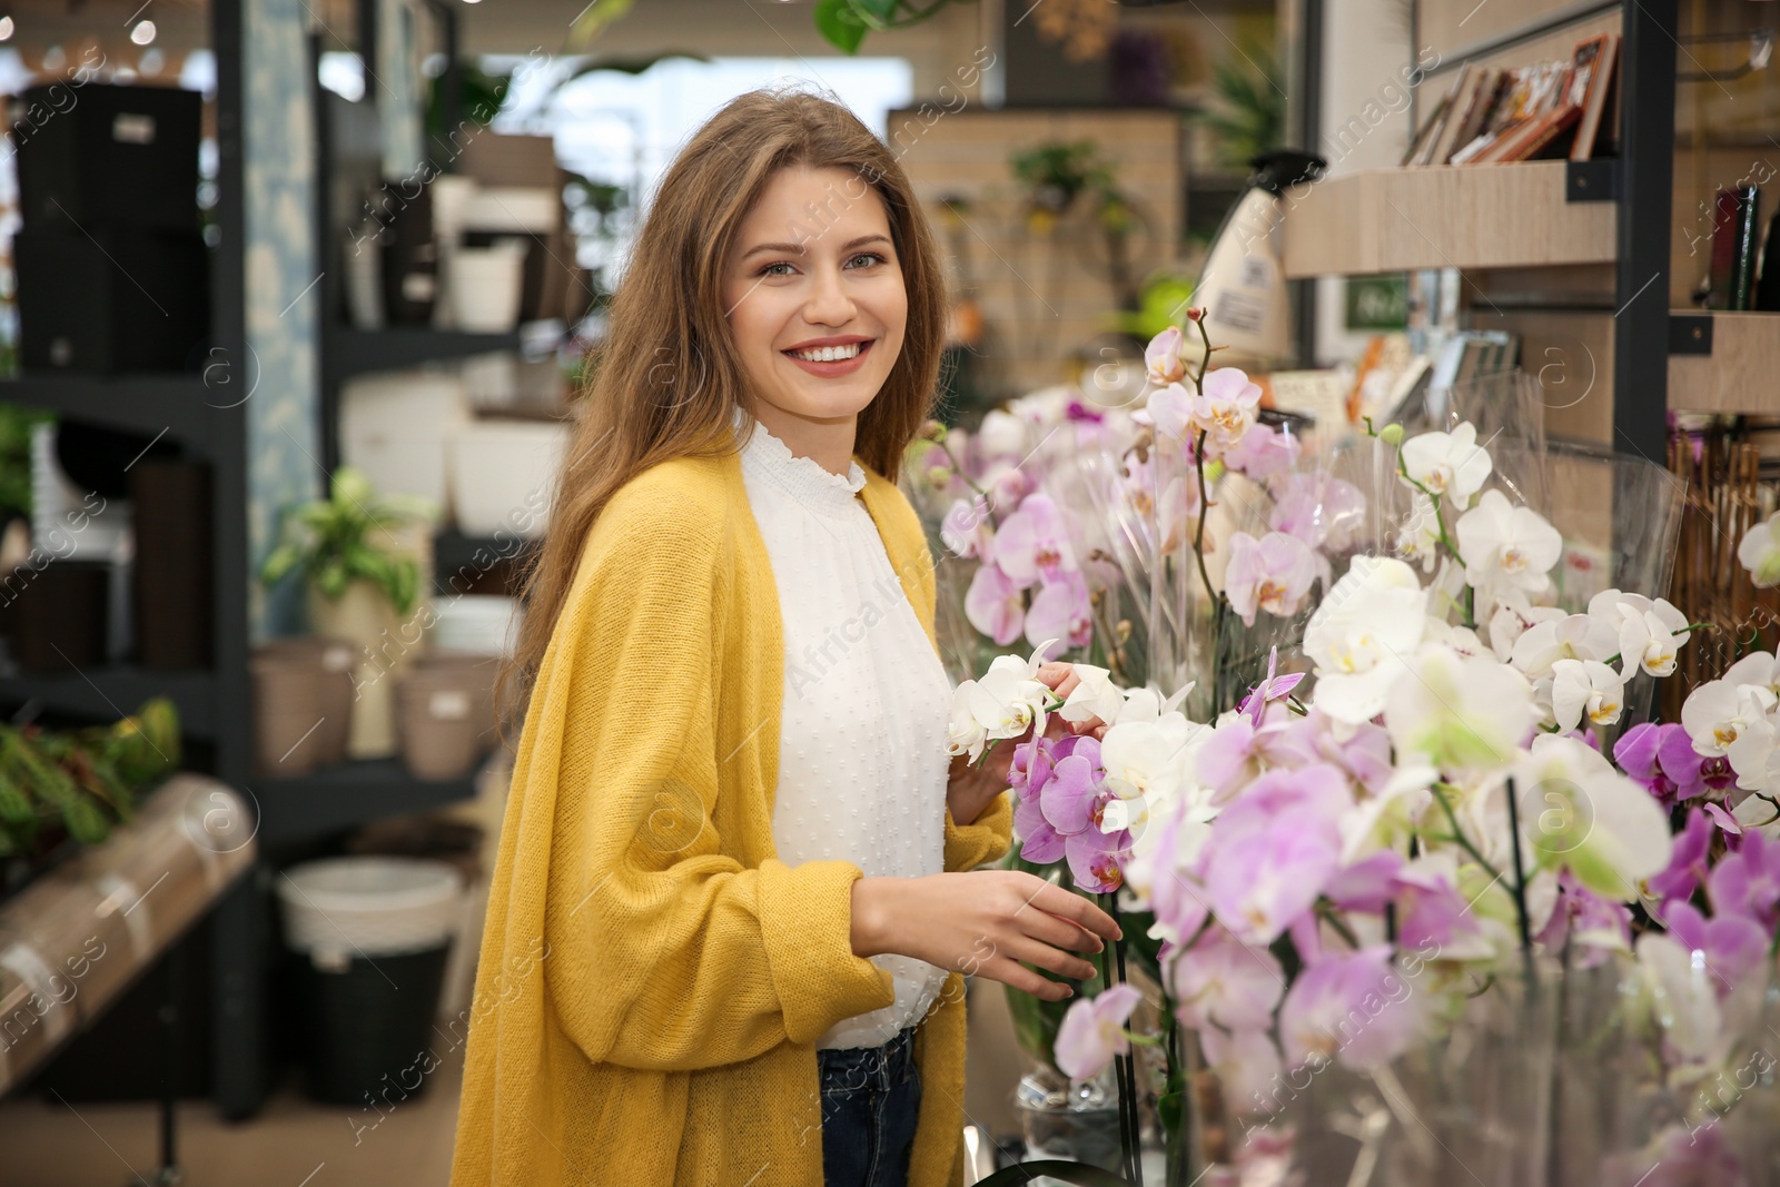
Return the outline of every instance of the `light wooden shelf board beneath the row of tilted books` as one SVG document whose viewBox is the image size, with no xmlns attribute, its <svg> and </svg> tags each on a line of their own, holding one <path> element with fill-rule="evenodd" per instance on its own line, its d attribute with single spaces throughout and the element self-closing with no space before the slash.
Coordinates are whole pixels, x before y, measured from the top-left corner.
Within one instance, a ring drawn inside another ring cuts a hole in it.
<svg viewBox="0 0 1780 1187">
<path fill-rule="evenodd" d="M 1362 169 L 1287 192 L 1285 274 L 1613 263 L 1618 206 L 1565 201 L 1566 166 Z"/>
</svg>

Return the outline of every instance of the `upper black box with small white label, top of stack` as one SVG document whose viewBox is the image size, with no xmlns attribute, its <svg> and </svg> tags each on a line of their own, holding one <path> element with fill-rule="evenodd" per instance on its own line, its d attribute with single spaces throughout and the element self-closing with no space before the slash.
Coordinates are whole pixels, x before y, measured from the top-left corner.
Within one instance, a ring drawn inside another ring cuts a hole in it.
<svg viewBox="0 0 1780 1187">
<path fill-rule="evenodd" d="M 25 91 L 12 105 L 25 226 L 196 231 L 203 105 L 174 87 Z"/>
</svg>

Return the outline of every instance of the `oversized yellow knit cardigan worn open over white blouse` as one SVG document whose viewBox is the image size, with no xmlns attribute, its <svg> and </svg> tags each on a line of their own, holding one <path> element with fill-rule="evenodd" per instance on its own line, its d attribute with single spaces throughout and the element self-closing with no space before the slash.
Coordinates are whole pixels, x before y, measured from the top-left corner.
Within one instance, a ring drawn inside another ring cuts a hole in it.
<svg viewBox="0 0 1780 1187">
<path fill-rule="evenodd" d="M 862 463 L 863 464 L 863 463 Z M 933 639 L 920 521 L 862 491 Z M 587 536 L 532 690 L 477 968 L 452 1187 L 822 1183 L 815 1041 L 890 1005 L 847 861 L 774 854 L 783 642 L 740 461 L 678 459 Z M 1002 794 L 945 868 L 1009 845 Z M 917 1030 L 911 1187 L 963 1176 L 965 997 Z"/>
</svg>

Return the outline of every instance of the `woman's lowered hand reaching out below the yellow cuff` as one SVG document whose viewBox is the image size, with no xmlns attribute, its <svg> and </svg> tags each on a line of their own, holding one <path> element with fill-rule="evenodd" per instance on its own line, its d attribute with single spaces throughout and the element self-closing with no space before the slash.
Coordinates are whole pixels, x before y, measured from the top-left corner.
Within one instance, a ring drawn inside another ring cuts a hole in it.
<svg viewBox="0 0 1780 1187">
<path fill-rule="evenodd" d="M 862 877 L 853 883 L 853 952 L 913 956 L 968 975 L 1002 981 L 1052 1002 L 1070 997 L 1059 977 L 1086 981 L 1098 970 L 1075 952 L 1100 952 L 1118 940 L 1112 916 L 1082 895 L 1018 870 L 972 870 L 927 877 Z"/>
</svg>

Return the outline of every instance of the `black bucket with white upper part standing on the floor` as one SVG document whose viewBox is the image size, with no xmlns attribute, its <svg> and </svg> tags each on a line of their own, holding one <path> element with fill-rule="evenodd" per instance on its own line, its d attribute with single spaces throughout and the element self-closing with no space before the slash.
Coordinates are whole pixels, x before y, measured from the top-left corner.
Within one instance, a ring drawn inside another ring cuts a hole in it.
<svg viewBox="0 0 1780 1187">
<path fill-rule="evenodd" d="M 310 1096 L 386 1112 L 438 1066 L 433 1018 L 463 877 L 443 861 L 352 856 L 278 879 L 285 943 L 297 961 Z"/>
</svg>

